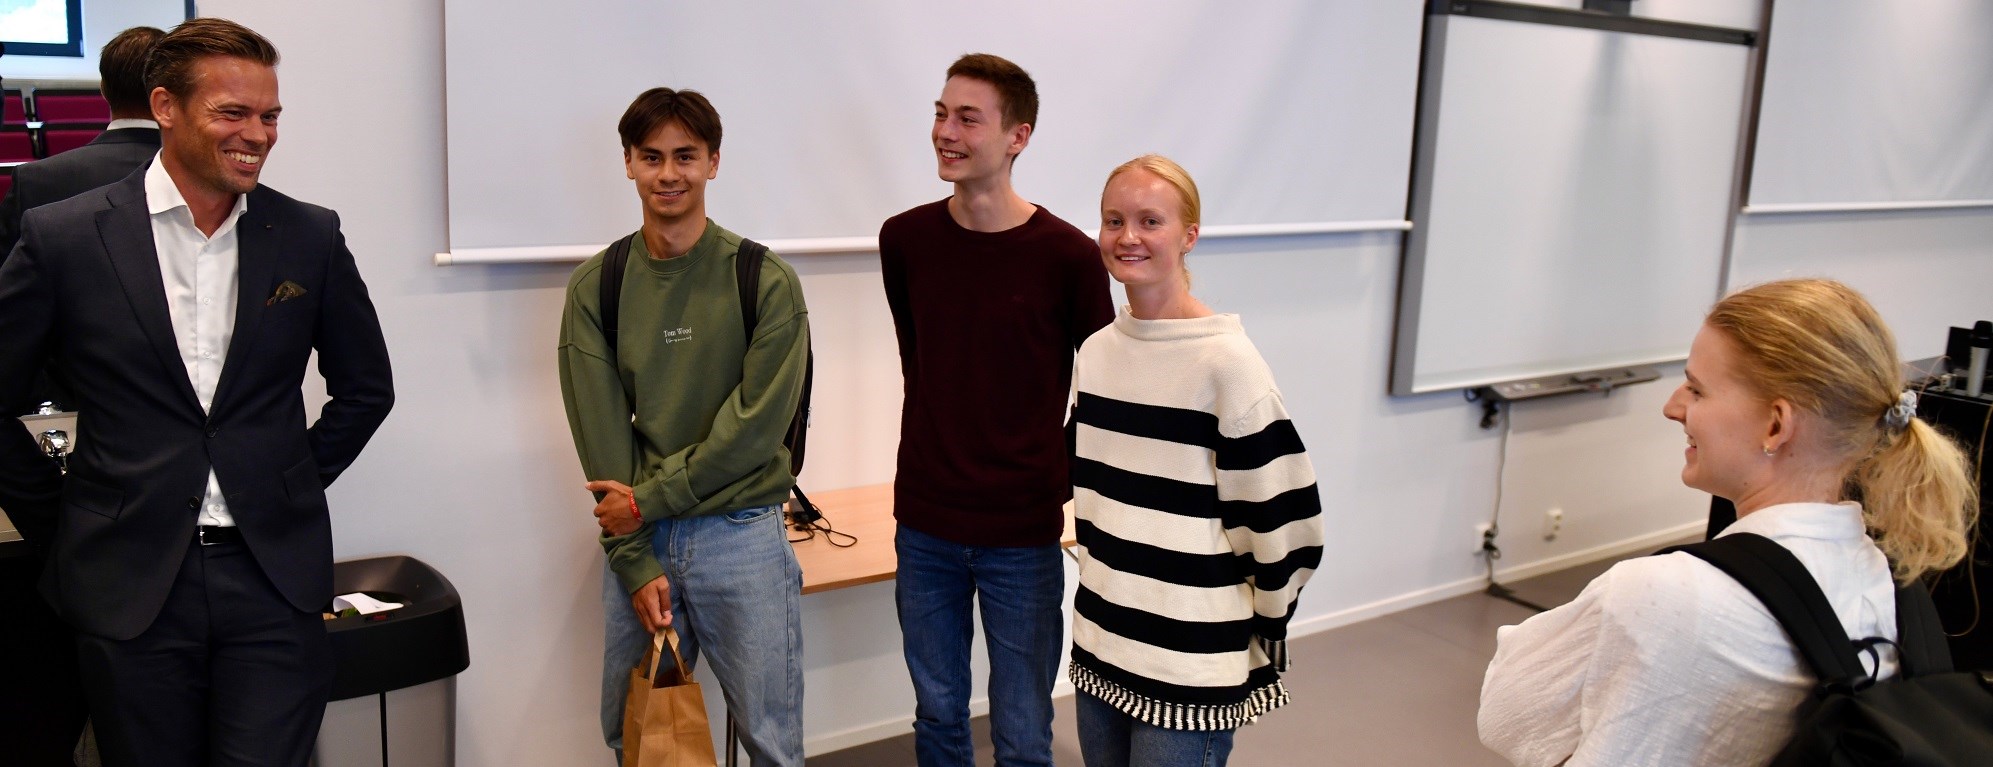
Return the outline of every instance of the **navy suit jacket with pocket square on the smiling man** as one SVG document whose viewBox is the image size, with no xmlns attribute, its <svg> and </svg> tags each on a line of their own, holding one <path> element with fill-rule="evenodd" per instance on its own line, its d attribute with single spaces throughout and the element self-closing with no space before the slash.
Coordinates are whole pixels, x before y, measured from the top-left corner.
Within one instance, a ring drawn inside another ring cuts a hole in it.
<svg viewBox="0 0 1993 767">
<path fill-rule="evenodd" d="M 50 604 L 80 632 L 128 639 L 157 618 L 213 468 L 263 574 L 319 612 L 333 588 L 325 486 L 395 400 L 367 285 L 337 213 L 251 191 L 235 223 L 235 335 L 203 412 L 173 343 L 143 179 L 28 211 L 0 265 L 0 412 L 24 410 L 42 361 L 80 404 L 68 476 L 0 418 L 0 508 L 48 554 Z M 287 281 L 303 293 L 279 293 Z M 307 428 L 313 351 L 331 402 Z"/>
</svg>

